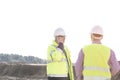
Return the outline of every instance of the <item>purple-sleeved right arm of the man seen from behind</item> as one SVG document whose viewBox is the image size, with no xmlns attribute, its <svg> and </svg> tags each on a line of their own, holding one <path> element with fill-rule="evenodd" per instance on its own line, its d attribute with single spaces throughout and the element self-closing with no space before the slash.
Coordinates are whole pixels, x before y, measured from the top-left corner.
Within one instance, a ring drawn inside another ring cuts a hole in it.
<svg viewBox="0 0 120 80">
<path fill-rule="evenodd" d="M 120 70 L 120 65 L 116 59 L 116 56 L 113 50 L 111 50 L 111 55 L 110 55 L 108 64 L 110 65 L 110 68 L 111 68 L 111 75 L 114 76 Z"/>
</svg>

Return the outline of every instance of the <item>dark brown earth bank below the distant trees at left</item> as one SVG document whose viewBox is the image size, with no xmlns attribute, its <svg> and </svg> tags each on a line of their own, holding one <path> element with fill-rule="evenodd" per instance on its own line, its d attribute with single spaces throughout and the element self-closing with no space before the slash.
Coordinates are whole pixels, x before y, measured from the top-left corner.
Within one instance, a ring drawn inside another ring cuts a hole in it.
<svg viewBox="0 0 120 80">
<path fill-rule="evenodd" d="M 46 78 L 46 65 L 0 63 L 0 76 Z"/>
</svg>

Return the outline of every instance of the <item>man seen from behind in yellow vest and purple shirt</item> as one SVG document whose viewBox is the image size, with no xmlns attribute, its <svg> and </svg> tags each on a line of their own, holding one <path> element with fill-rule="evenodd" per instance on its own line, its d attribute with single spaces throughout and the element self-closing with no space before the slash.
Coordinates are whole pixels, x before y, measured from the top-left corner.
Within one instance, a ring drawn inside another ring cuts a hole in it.
<svg viewBox="0 0 120 80">
<path fill-rule="evenodd" d="M 90 35 L 92 44 L 80 50 L 75 64 L 77 80 L 110 80 L 120 70 L 115 53 L 101 44 L 103 30 L 100 26 L 93 27 Z"/>
</svg>

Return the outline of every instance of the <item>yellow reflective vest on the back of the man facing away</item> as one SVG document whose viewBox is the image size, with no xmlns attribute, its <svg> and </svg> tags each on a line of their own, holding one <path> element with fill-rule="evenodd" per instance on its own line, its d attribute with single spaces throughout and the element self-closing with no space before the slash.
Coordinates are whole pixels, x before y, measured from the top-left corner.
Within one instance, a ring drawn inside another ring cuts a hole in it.
<svg viewBox="0 0 120 80">
<path fill-rule="evenodd" d="M 91 44 L 83 48 L 84 64 L 83 76 L 86 78 L 97 77 L 110 79 L 110 67 L 108 61 L 110 58 L 110 48 L 102 44 Z"/>
</svg>

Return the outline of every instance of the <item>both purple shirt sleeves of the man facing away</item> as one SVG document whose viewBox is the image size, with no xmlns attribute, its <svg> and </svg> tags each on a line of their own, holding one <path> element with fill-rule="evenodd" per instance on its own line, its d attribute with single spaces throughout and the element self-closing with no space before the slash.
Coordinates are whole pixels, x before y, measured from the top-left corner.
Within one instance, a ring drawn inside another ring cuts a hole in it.
<svg viewBox="0 0 120 80">
<path fill-rule="evenodd" d="M 83 71 L 83 61 L 84 61 L 84 53 L 81 49 L 79 52 L 78 59 L 75 63 L 75 72 L 77 80 L 82 80 L 82 71 Z M 120 65 L 115 57 L 115 53 L 113 50 L 110 50 L 110 58 L 108 61 L 108 65 L 110 66 L 111 75 L 115 75 L 120 70 Z"/>
</svg>

